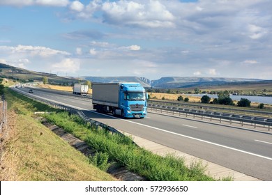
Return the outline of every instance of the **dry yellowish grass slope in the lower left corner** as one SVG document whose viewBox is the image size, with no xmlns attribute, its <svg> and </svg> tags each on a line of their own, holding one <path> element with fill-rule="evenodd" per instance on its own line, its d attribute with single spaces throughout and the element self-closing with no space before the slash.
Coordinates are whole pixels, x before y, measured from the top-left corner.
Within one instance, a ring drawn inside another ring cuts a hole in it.
<svg viewBox="0 0 272 195">
<path fill-rule="evenodd" d="M 1 147 L 3 180 L 116 180 L 33 118 L 56 111 L 6 90 L 8 131 Z M 6 132 L 5 132 L 6 133 Z"/>
</svg>

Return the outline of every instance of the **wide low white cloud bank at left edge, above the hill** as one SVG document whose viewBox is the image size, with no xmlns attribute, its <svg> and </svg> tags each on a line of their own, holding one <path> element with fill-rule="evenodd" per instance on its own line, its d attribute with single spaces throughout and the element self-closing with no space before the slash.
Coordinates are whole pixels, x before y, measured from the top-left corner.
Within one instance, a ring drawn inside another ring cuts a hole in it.
<svg viewBox="0 0 272 195">
<path fill-rule="evenodd" d="M 3 59 L 1 61 L 8 65 L 38 72 L 75 72 L 79 70 L 79 63 L 67 59 L 67 56 L 70 56 L 70 53 L 49 47 L 31 45 L 0 46 L 0 59 Z M 59 63 L 60 61 L 61 63 Z"/>
</svg>

